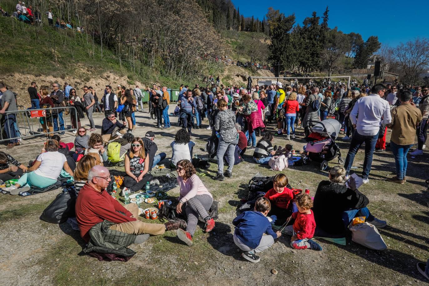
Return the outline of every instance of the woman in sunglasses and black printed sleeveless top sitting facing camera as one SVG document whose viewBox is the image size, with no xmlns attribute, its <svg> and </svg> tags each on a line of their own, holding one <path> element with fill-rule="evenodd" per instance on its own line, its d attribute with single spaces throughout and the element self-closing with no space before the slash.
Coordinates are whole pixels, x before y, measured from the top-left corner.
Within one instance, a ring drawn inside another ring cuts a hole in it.
<svg viewBox="0 0 429 286">
<path fill-rule="evenodd" d="M 130 152 L 125 155 L 125 173 L 127 176 L 124 178 L 124 186 L 131 192 L 138 192 L 145 188 L 146 183 L 153 179 L 153 176 L 148 174 L 149 161 L 142 138 L 134 138 Z"/>
</svg>

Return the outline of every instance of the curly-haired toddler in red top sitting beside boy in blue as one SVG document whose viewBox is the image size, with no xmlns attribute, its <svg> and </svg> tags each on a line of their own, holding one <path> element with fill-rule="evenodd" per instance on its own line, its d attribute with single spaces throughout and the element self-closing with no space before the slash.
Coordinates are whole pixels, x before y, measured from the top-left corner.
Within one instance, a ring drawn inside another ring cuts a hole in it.
<svg viewBox="0 0 429 286">
<path fill-rule="evenodd" d="M 292 214 L 292 219 L 295 219 L 293 225 L 284 228 L 283 233 L 292 235 L 290 239 L 290 246 L 295 249 L 313 249 L 322 250 L 319 243 L 311 240 L 314 236 L 316 229 L 316 222 L 314 221 L 313 200 L 305 193 L 299 194 L 295 198 L 296 207 L 298 211 Z M 289 219 L 289 218 L 288 218 Z"/>
</svg>

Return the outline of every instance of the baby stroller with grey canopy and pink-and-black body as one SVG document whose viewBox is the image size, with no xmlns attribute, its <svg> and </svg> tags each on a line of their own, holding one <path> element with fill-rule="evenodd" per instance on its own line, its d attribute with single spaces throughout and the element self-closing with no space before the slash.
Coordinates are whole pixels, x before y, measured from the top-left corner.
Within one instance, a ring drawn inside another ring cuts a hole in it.
<svg viewBox="0 0 429 286">
<path fill-rule="evenodd" d="M 315 125 L 310 128 L 310 123 Z M 328 162 L 338 157 L 338 164 L 344 164 L 345 158 L 341 157 L 341 150 L 335 143 L 340 133 L 341 123 L 335 119 L 325 119 L 323 121 L 307 121 L 308 129 L 311 133 L 306 137 L 307 145 L 304 151 L 307 152 L 311 161 L 320 162 L 320 170 L 326 170 Z"/>
</svg>

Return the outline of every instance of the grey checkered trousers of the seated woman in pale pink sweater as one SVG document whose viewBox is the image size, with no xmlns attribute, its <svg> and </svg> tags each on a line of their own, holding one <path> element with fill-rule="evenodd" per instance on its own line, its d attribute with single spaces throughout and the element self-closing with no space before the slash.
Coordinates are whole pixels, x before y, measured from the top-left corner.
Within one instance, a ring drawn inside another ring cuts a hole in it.
<svg viewBox="0 0 429 286">
<path fill-rule="evenodd" d="M 187 216 L 186 231 L 193 236 L 198 223 L 198 218 L 201 216 L 202 219 L 207 220 L 208 210 L 210 210 L 211 204 L 213 204 L 213 198 L 209 195 L 196 195 L 190 198 L 186 202 L 185 213 Z"/>
</svg>

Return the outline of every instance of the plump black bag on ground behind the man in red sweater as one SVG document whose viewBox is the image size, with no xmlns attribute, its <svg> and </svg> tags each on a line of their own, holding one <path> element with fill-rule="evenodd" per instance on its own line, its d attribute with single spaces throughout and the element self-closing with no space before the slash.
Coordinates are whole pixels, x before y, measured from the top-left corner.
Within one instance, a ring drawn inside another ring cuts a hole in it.
<svg viewBox="0 0 429 286">
<path fill-rule="evenodd" d="M 40 219 L 45 222 L 62 223 L 69 217 L 75 217 L 76 197 L 65 191 L 57 195 L 54 201 L 45 208 Z"/>
</svg>

